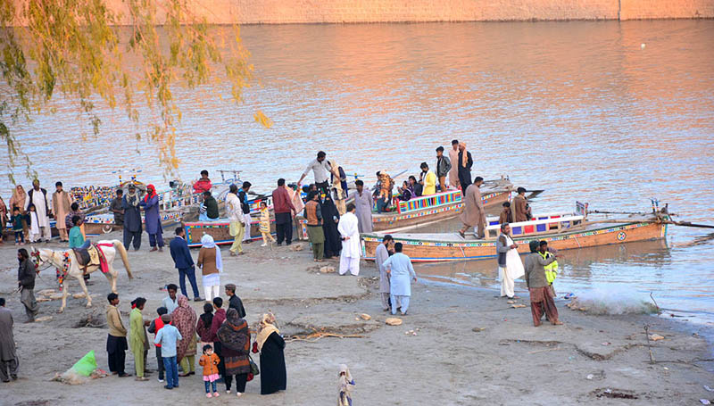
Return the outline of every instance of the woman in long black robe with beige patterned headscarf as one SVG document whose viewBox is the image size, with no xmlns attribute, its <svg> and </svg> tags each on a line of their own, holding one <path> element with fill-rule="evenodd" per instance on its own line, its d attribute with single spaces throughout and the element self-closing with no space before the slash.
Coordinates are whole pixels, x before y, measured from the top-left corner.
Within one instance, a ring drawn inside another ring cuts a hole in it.
<svg viewBox="0 0 714 406">
<path fill-rule="evenodd" d="M 287 387 L 285 340 L 279 335 L 273 313 L 262 315 L 253 352 L 261 352 L 261 394 L 275 394 Z"/>
</svg>

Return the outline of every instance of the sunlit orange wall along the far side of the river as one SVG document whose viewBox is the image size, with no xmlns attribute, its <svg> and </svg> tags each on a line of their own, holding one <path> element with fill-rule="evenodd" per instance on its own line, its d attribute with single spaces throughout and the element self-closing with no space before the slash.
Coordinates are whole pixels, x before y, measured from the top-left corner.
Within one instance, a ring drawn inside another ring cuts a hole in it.
<svg viewBox="0 0 714 406">
<path fill-rule="evenodd" d="M 14 0 L 21 4 L 23 0 Z M 129 23 L 125 0 L 105 0 Z M 714 0 L 188 0 L 213 24 L 714 18 Z M 161 18 L 162 0 L 156 0 Z"/>
</svg>

